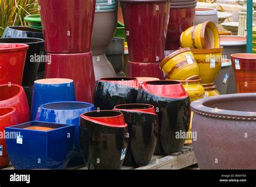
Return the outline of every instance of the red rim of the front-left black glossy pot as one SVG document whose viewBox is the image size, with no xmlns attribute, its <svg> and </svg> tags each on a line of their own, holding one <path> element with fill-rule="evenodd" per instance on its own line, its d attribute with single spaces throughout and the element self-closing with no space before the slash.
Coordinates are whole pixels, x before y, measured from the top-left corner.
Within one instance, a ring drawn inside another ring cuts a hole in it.
<svg viewBox="0 0 256 187">
<path fill-rule="evenodd" d="M 102 124 L 103 126 L 116 127 L 116 128 L 128 127 L 127 123 L 124 123 L 124 124 L 109 124 L 109 123 L 104 123 L 104 122 L 96 121 L 96 120 L 90 119 L 90 117 L 88 117 L 88 116 L 85 116 L 85 114 L 95 113 L 95 112 L 98 112 L 98 111 L 96 110 L 96 111 L 86 112 L 86 113 L 81 114 L 80 117 L 82 117 L 84 120 L 88 120 L 88 121 L 91 121 L 93 123 Z M 117 110 L 99 110 L 99 112 L 117 112 L 117 113 L 119 113 L 119 115 L 109 116 L 109 117 L 94 117 L 94 118 L 97 118 L 97 119 L 109 118 L 110 119 L 110 118 L 113 118 L 113 117 L 124 116 L 122 112 L 119 112 Z"/>
</svg>

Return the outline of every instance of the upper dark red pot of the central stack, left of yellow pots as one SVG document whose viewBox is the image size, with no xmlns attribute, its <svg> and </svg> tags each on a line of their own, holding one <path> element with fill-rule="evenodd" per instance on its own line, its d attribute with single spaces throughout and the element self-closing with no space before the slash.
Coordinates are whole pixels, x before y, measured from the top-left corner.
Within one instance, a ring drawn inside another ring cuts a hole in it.
<svg viewBox="0 0 256 187">
<path fill-rule="evenodd" d="M 129 58 L 137 63 L 155 63 L 164 58 L 170 12 L 169 0 L 120 0 Z"/>
</svg>

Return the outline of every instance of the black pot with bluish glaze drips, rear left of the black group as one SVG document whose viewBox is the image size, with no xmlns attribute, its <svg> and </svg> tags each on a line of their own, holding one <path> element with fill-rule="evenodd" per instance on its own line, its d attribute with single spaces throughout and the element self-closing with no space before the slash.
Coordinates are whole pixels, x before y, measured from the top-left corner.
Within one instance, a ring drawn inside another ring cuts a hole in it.
<svg viewBox="0 0 256 187">
<path fill-rule="evenodd" d="M 93 103 L 100 110 L 111 110 L 116 105 L 136 103 L 139 83 L 136 78 L 103 78 L 96 82 Z"/>
</svg>

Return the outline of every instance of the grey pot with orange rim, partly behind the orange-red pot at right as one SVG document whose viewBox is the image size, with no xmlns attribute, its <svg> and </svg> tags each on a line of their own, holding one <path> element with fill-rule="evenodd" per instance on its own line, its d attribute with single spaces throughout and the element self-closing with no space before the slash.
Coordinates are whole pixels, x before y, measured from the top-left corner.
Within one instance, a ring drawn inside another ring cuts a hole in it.
<svg viewBox="0 0 256 187">
<path fill-rule="evenodd" d="M 231 54 L 246 53 L 246 36 L 220 36 L 220 45 L 224 47 L 223 57 L 231 59 Z M 227 94 L 237 93 L 233 68 L 230 68 L 228 79 Z"/>
</svg>

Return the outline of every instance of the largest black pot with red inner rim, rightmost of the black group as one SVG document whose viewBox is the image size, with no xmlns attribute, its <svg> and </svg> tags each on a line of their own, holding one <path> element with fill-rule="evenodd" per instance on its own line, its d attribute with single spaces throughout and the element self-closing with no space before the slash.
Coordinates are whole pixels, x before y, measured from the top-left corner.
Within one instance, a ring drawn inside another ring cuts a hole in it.
<svg viewBox="0 0 256 187">
<path fill-rule="evenodd" d="M 156 108 L 159 119 L 159 136 L 155 154 L 177 153 L 184 145 L 185 137 L 177 135 L 188 131 L 190 124 L 190 98 L 177 81 L 159 80 L 143 82 L 138 103 Z"/>
</svg>

